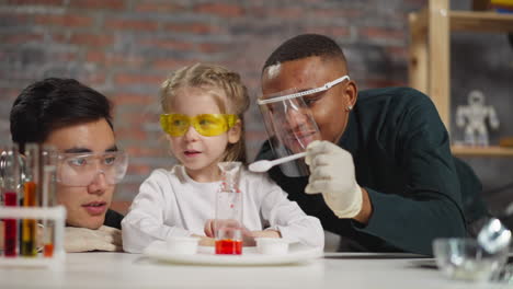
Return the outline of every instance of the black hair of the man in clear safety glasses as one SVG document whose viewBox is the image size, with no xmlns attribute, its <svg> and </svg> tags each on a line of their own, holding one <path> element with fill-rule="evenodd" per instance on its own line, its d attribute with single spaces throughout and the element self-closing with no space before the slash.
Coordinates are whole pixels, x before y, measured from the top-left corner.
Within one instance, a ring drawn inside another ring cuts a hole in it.
<svg viewBox="0 0 513 289">
<path fill-rule="evenodd" d="M 48 78 L 25 88 L 12 105 L 12 141 L 44 142 L 55 129 L 104 118 L 112 126 L 111 102 L 73 79 Z"/>
</svg>

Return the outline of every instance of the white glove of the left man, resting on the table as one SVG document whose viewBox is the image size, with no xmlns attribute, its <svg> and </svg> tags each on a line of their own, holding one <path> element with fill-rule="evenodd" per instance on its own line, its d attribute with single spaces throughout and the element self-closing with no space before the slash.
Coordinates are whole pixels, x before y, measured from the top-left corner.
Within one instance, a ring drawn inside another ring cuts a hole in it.
<svg viewBox="0 0 513 289">
<path fill-rule="evenodd" d="M 123 251 L 121 230 L 102 226 L 98 230 L 66 227 L 66 252 Z"/>
</svg>

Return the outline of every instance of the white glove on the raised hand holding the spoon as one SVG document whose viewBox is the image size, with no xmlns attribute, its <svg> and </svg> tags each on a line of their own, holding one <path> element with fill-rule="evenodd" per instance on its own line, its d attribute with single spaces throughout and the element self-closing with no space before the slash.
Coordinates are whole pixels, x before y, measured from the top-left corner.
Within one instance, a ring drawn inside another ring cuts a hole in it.
<svg viewBox="0 0 513 289">
<path fill-rule="evenodd" d="M 362 188 L 356 183 L 350 152 L 332 142 L 316 140 L 308 144 L 305 162 L 310 166 L 305 193 L 322 193 L 339 218 L 354 218 L 362 210 Z"/>
</svg>

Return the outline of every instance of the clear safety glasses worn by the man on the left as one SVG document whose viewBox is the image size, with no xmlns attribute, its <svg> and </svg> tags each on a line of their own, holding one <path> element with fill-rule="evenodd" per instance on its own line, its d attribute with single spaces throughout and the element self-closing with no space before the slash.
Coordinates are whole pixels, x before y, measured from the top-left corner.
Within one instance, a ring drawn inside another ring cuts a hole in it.
<svg viewBox="0 0 513 289">
<path fill-rule="evenodd" d="M 104 153 L 58 153 L 57 182 L 65 186 L 88 186 L 103 175 L 106 184 L 119 183 L 128 166 L 123 151 Z"/>
</svg>

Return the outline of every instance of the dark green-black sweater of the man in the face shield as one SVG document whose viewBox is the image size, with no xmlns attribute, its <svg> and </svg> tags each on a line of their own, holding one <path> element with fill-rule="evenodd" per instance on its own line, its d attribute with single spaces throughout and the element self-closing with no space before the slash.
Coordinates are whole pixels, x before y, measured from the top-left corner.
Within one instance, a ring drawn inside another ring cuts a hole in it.
<svg viewBox="0 0 513 289">
<path fill-rule="evenodd" d="M 453 158 L 435 106 L 419 91 L 360 92 L 338 144 L 353 155 L 356 181 L 369 194 L 373 213 L 366 226 L 335 217 L 321 194 L 305 194 L 308 177 L 287 177 L 278 166 L 270 175 L 324 230 L 343 238 L 342 251 L 431 255 L 434 239 L 465 236 L 466 217 L 469 222 L 485 213 L 480 199 L 464 208 L 464 199 L 479 197 L 481 184 Z M 275 159 L 269 142 L 256 159 Z"/>
</svg>

